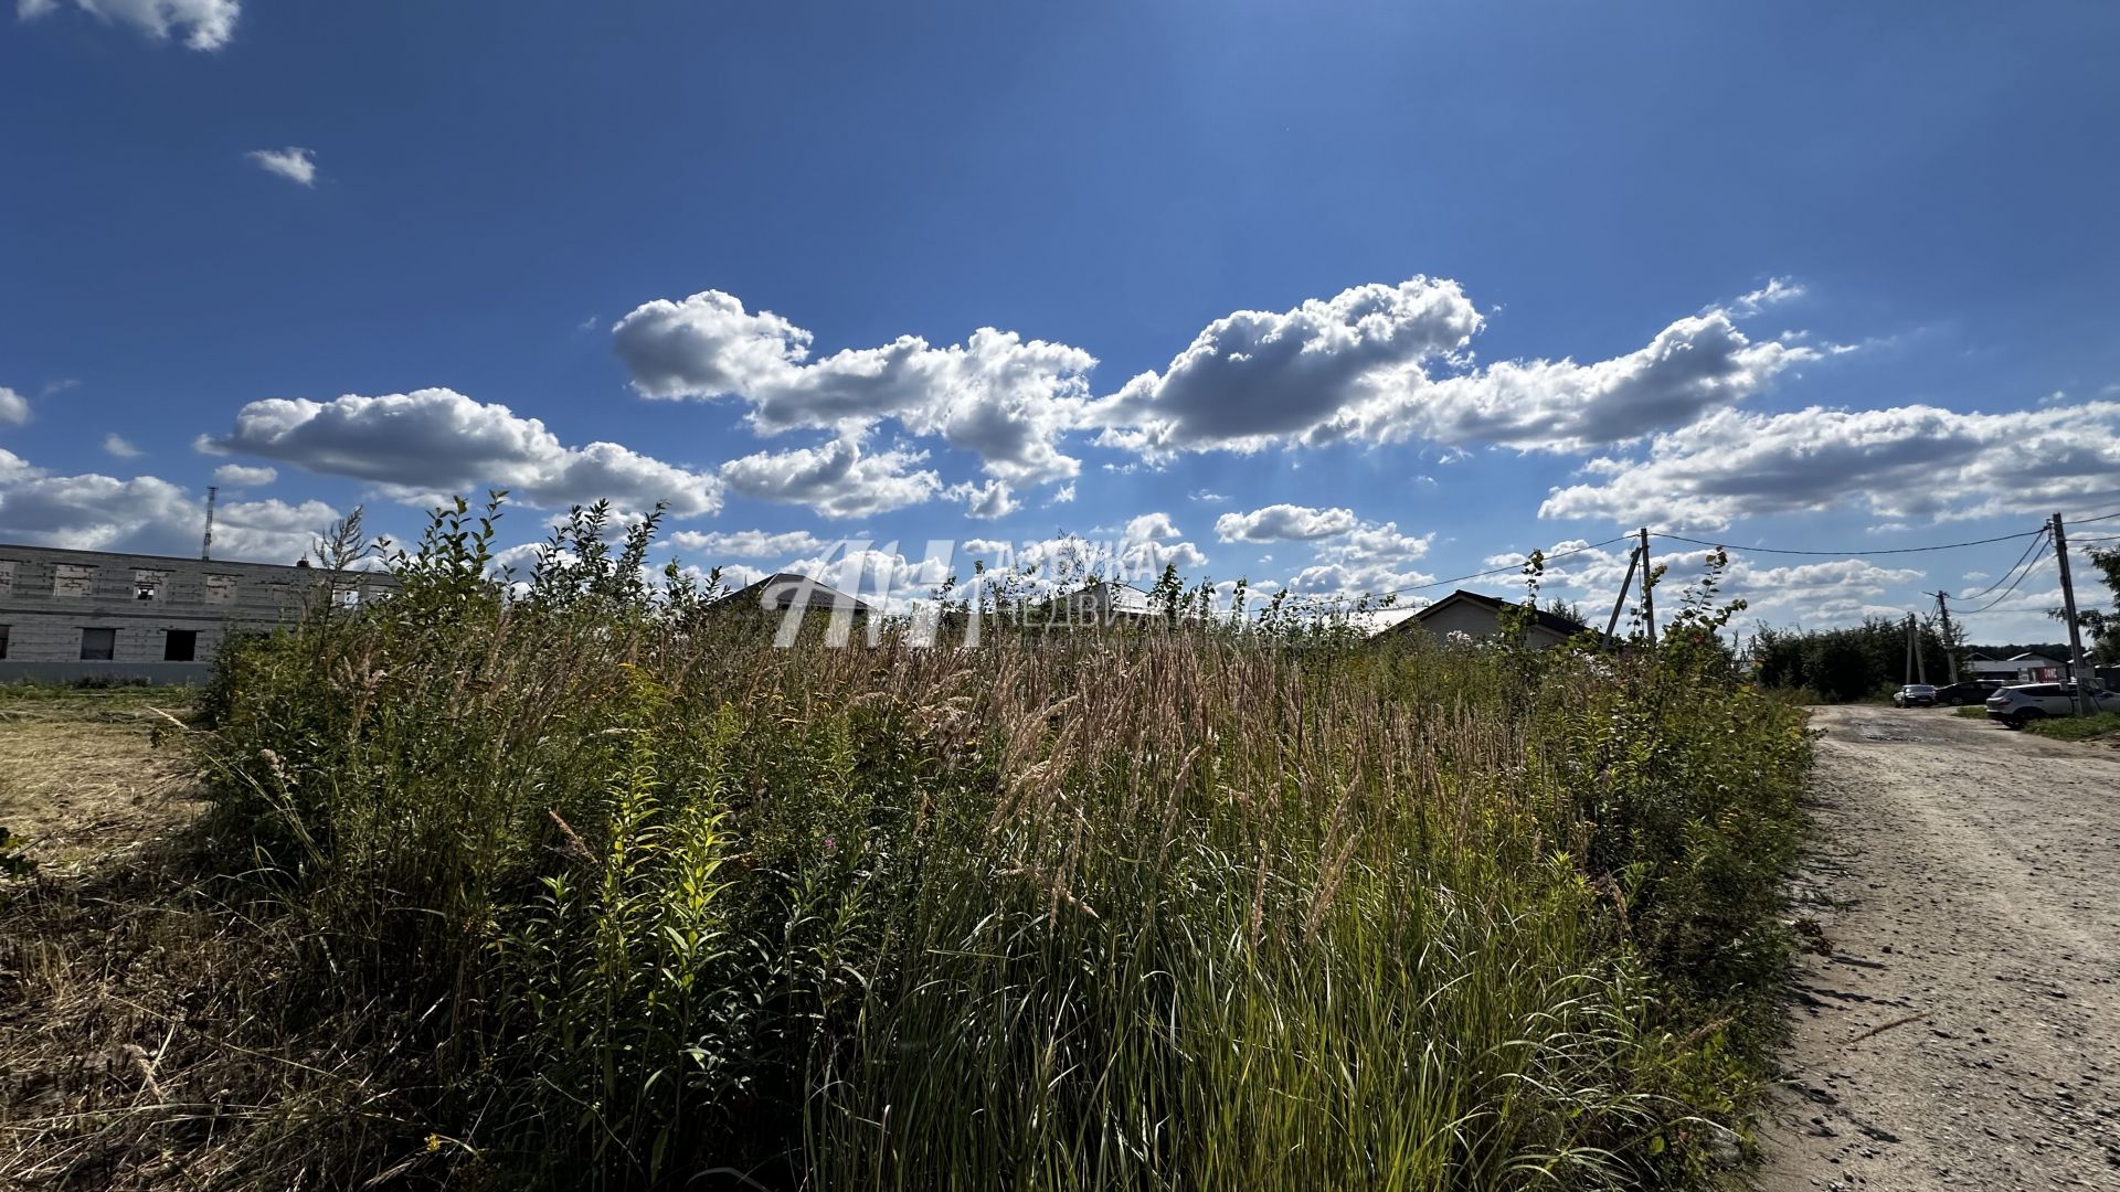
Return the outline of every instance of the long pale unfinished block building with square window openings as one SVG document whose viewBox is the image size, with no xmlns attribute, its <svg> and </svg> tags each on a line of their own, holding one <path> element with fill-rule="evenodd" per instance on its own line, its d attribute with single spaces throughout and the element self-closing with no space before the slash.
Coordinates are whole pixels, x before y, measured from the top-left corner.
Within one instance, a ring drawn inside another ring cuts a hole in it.
<svg viewBox="0 0 2120 1192">
<path fill-rule="evenodd" d="M 312 600 L 354 604 L 384 575 L 0 543 L 0 683 L 201 683 L 220 643 Z"/>
</svg>

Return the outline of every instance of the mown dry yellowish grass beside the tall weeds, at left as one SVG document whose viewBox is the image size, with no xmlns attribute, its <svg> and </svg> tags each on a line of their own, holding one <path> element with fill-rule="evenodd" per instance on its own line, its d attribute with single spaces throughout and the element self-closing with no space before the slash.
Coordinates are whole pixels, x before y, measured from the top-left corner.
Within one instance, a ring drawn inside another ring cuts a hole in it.
<svg viewBox="0 0 2120 1192">
<path fill-rule="evenodd" d="M 261 997 L 284 933 L 231 916 L 180 831 L 197 804 L 157 738 L 189 698 L 0 687 L 0 825 L 38 863 L 0 884 L 0 1188 L 329 1184 L 233 1173 L 259 1130 L 365 1107 L 377 1065 L 284 1029 Z"/>
</svg>

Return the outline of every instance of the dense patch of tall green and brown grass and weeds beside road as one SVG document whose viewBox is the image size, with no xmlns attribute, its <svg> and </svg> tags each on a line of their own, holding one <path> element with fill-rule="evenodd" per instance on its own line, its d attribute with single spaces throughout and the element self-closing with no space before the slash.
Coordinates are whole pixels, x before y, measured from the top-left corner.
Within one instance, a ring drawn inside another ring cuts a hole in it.
<svg viewBox="0 0 2120 1192">
<path fill-rule="evenodd" d="M 509 598 L 490 515 L 208 698 L 286 980 L 426 1046 L 348 1171 L 1675 1186 L 1743 1124 L 1806 740 L 1702 634 L 772 649 L 651 526 Z"/>
</svg>

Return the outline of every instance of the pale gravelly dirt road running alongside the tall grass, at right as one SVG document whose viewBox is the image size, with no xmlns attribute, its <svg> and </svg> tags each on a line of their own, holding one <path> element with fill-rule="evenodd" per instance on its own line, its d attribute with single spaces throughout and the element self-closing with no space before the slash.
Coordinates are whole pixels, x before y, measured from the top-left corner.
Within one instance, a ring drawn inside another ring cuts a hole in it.
<svg viewBox="0 0 2120 1192">
<path fill-rule="evenodd" d="M 2120 749 L 1819 708 L 1762 1188 L 2120 1190 Z"/>
</svg>

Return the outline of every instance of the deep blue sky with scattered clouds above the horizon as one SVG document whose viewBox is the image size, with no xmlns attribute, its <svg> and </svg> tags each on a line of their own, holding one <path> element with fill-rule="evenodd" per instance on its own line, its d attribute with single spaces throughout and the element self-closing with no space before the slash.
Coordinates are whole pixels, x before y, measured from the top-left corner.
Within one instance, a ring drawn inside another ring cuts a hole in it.
<svg viewBox="0 0 2120 1192">
<path fill-rule="evenodd" d="M 1338 594 L 2120 511 L 2109 4 L 0 21 L 0 541 L 184 554 L 229 469 L 250 558 L 502 484 L 509 545 L 664 498 L 742 575 L 1066 530 Z M 2018 554 L 1736 579 L 1830 624 Z"/>
</svg>

